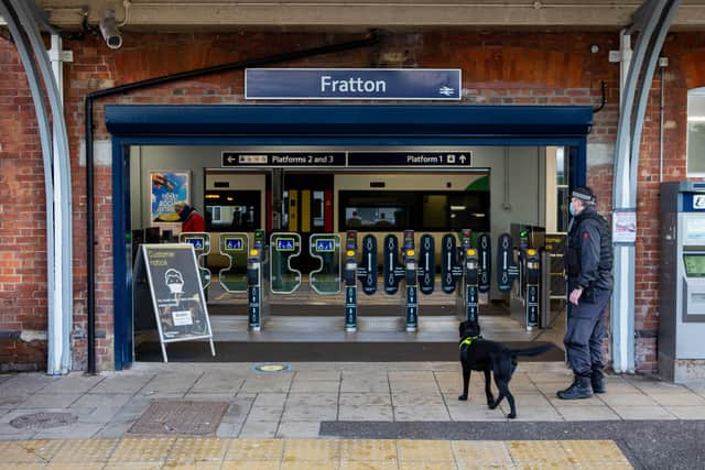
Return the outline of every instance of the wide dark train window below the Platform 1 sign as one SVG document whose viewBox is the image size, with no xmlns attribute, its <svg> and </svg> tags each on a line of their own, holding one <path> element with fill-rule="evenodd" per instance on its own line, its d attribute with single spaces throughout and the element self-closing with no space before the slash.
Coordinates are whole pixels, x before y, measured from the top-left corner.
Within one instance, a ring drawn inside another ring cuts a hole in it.
<svg viewBox="0 0 705 470">
<path fill-rule="evenodd" d="M 488 192 L 340 192 L 343 230 L 489 231 Z"/>
</svg>

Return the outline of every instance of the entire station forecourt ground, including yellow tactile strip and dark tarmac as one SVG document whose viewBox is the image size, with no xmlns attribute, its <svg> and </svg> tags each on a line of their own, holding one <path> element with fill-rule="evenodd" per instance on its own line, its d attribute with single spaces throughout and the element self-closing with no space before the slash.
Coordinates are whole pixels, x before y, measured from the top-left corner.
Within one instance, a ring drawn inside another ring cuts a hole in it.
<svg viewBox="0 0 705 470">
<path fill-rule="evenodd" d="M 511 382 L 519 416 L 509 420 L 506 403 L 487 408 L 480 374 L 458 402 L 457 362 L 254 365 L 0 375 L 0 469 L 705 468 L 705 383 L 610 375 L 607 393 L 564 402 L 555 392 L 572 375 L 562 362 L 522 362 Z M 170 401 L 215 402 L 221 414 L 203 435 L 131 433 Z M 73 423 L 17 426 L 36 413 Z M 267 458 L 242 457 L 258 450 Z"/>
</svg>

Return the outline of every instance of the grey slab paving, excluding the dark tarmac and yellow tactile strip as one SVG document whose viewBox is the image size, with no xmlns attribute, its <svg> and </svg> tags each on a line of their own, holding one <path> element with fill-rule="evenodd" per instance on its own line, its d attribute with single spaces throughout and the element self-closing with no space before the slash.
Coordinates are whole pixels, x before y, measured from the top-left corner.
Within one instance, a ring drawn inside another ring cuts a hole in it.
<svg viewBox="0 0 705 470">
<path fill-rule="evenodd" d="M 291 363 L 258 372 L 249 363 L 135 363 L 128 371 L 52 378 L 0 375 L 0 439 L 122 437 L 160 400 L 227 403 L 217 437 L 318 437 L 322 422 L 507 422 L 507 403 L 488 409 L 481 374 L 459 402 L 457 362 Z M 705 384 L 684 386 L 610 375 L 607 393 L 565 402 L 555 392 L 572 380 L 563 363 L 519 364 L 511 381 L 525 422 L 705 419 Z M 74 424 L 18 429 L 10 422 L 64 412 Z"/>
</svg>

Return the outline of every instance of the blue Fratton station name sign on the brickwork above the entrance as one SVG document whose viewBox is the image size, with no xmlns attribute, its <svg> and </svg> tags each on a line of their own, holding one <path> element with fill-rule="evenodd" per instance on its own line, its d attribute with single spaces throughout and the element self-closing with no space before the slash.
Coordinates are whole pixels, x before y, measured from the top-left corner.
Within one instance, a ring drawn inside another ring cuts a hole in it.
<svg viewBox="0 0 705 470">
<path fill-rule="evenodd" d="M 460 69 L 248 68 L 246 99 L 460 99 Z"/>
</svg>

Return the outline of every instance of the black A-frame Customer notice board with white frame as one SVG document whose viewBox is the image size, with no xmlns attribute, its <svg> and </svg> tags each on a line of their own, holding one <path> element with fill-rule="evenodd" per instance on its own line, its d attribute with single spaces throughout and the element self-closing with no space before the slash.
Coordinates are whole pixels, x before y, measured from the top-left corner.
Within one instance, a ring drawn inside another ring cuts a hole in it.
<svg viewBox="0 0 705 470">
<path fill-rule="evenodd" d="M 141 248 L 133 289 L 137 292 L 149 286 L 164 362 L 167 362 L 165 345 L 176 341 L 208 339 L 215 356 L 206 297 L 193 245 L 143 244 Z"/>
</svg>

